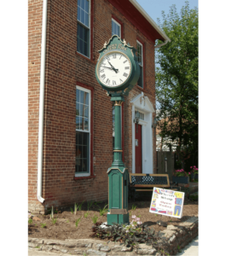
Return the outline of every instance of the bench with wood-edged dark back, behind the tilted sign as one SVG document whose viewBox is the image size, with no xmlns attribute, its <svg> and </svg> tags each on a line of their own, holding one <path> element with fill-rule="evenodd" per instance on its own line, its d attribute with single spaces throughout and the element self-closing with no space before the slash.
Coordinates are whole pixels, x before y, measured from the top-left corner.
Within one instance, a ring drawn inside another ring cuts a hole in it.
<svg viewBox="0 0 226 256">
<path fill-rule="evenodd" d="M 130 173 L 129 193 L 133 194 L 133 199 L 136 192 L 151 192 L 154 187 L 177 190 L 171 186 L 168 174 Z"/>
</svg>

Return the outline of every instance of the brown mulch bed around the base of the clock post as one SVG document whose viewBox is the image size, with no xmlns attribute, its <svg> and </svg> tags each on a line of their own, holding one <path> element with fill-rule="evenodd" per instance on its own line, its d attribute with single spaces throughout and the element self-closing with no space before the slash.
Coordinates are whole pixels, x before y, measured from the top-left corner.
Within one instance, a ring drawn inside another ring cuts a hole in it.
<svg viewBox="0 0 226 256">
<path fill-rule="evenodd" d="M 149 228 L 153 227 L 155 233 L 166 229 L 165 227 L 156 224 L 158 220 L 162 220 L 168 225 L 178 225 L 194 215 L 197 216 L 199 212 L 198 201 L 188 201 L 188 199 L 185 198 L 183 206 L 183 218 L 171 218 L 168 216 L 150 213 L 150 201 L 151 200 L 129 202 L 130 221 L 131 215 L 136 215 L 136 217 L 140 215 L 142 223 L 148 224 Z M 87 218 L 84 217 L 84 213 L 87 212 L 87 205 L 85 203 L 82 210 L 78 211 L 76 215 L 72 214 L 70 207 L 66 208 L 54 214 L 54 218 L 56 218 L 55 224 L 53 224 L 52 219 L 49 218 L 50 214 L 35 215 L 40 220 L 35 220 L 35 218 L 33 218 L 32 224 L 28 224 L 28 236 L 57 240 L 90 239 L 90 235 L 93 234 L 92 226 L 94 225 L 92 217 L 96 215 L 98 216 L 97 222 L 107 222 L 107 213 L 105 213 L 104 216 L 100 216 L 99 211 L 100 208 L 102 209 L 106 205 L 107 202 L 100 202 L 98 205 L 93 205 L 90 207 L 89 216 Z M 136 206 L 136 210 L 132 210 L 133 205 Z M 80 222 L 78 223 L 78 227 L 76 227 L 75 222 L 80 217 Z M 46 224 L 46 226 L 42 227 L 41 224 Z"/>
</svg>

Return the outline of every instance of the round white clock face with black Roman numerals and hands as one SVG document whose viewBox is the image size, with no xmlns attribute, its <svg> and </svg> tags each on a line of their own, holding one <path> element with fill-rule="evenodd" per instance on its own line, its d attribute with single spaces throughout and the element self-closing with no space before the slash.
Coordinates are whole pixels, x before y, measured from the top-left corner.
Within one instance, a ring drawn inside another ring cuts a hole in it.
<svg viewBox="0 0 226 256">
<path fill-rule="evenodd" d="M 101 57 L 97 66 L 97 75 L 107 87 L 117 87 L 129 79 L 131 62 L 127 55 L 113 51 Z"/>
</svg>

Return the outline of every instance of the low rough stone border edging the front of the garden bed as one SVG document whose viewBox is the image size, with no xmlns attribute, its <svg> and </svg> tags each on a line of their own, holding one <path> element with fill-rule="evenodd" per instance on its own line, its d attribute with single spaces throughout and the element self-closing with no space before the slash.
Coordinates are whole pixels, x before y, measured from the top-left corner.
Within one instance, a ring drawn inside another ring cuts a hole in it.
<svg viewBox="0 0 226 256">
<path fill-rule="evenodd" d="M 124 244 L 114 241 L 102 241 L 94 239 L 50 240 L 27 237 L 28 249 L 46 251 L 52 253 L 66 253 L 66 255 L 91 255 L 91 256 L 137 256 L 175 255 L 178 247 L 181 249 L 198 236 L 199 219 L 194 216 L 187 221 L 174 226 L 168 225 L 163 231 L 159 231 L 159 243 L 165 242 L 167 251 L 159 253 L 153 246 L 140 244 L 138 248 L 125 247 Z M 168 254 L 167 254 L 168 253 Z"/>
</svg>

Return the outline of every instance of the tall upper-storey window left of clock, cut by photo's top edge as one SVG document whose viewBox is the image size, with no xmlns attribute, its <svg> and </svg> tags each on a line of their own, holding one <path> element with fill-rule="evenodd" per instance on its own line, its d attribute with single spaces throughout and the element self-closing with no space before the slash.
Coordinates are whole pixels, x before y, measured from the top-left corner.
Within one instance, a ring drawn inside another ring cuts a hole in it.
<svg viewBox="0 0 226 256">
<path fill-rule="evenodd" d="M 78 0 L 77 51 L 90 58 L 90 1 Z"/>
</svg>

